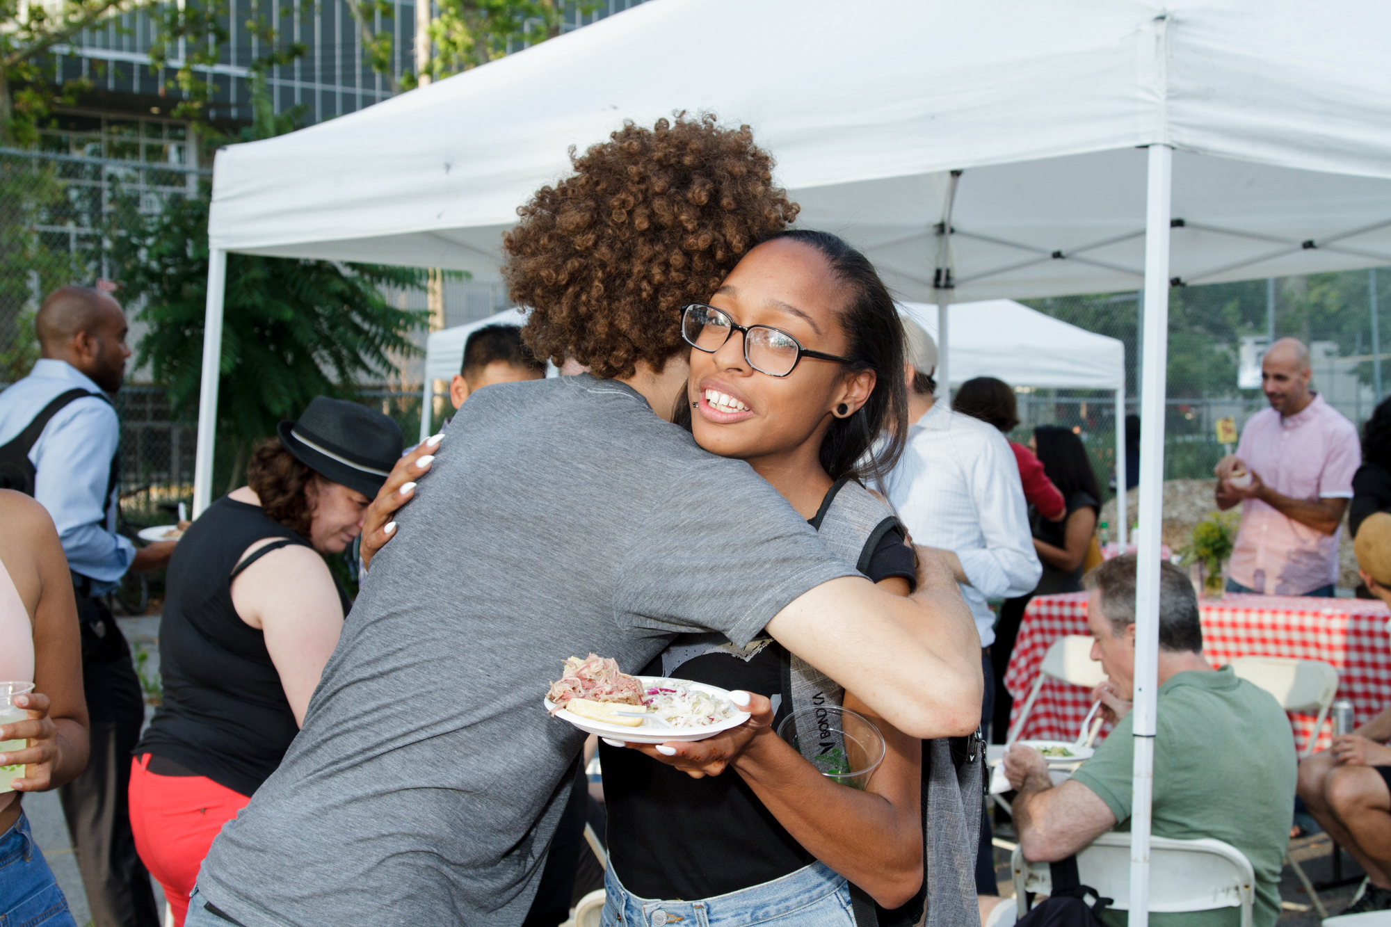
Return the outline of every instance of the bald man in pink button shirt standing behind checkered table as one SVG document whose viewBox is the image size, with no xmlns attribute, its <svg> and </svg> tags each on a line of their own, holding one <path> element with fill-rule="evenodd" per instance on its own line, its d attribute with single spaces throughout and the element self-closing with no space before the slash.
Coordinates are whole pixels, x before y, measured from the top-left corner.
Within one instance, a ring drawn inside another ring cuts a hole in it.
<svg viewBox="0 0 1391 927">
<path fill-rule="evenodd" d="M 1235 457 L 1217 462 L 1217 508 L 1241 502 L 1227 592 L 1333 596 L 1338 533 L 1362 462 L 1358 430 L 1309 390 L 1309 349 L 1281 338 L 1266 351 L 1269 409 L 1251 416 Z"/>
</svg>

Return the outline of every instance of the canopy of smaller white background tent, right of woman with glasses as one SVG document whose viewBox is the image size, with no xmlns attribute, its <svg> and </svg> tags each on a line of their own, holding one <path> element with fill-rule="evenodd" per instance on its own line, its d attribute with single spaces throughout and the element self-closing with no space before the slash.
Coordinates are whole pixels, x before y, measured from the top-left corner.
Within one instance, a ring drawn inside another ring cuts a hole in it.
<svg viewBox="0 0 1391 927">
<path fill-rule="evenodd" d="M 899 310 L 938 338 L 938 306 Z M 1125 344 L 1068 324 L 1013 299 L 951 305 L 947 370 L 951 384 L 996 377 L 1010 386 L 1124 390 Z"/>
</svg>

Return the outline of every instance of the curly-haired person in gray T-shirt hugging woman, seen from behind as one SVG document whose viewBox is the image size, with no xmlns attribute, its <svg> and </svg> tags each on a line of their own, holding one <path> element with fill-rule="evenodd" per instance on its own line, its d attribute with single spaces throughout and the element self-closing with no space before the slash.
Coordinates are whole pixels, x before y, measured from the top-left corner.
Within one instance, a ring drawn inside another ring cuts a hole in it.
<svg viewBox="0 0 1391 927">
<path fill-rule="evenodd" d="M 506 278 L 533 354 L 590 373 L 481 390 L 412 505 L 370 523 L 369 554 L 395 539 L 284 763 L 214 841 L 195 927 L 522 923 L 584 742 L 541 703 L 572 654 L 634 672 L 679 633 L 766 635 L 907 736 L 976 727 L 979 640 L 940 562 L 912 597 L 876 587 L 672 423 L 682 308 L 796 216 L 772 159 L 677 117 L 573 166 L 520 209 Z M 419 472 L 403 458 L 378 501 Z M 654 753 L 718 774 L 757 734 Z"/>
</svg>

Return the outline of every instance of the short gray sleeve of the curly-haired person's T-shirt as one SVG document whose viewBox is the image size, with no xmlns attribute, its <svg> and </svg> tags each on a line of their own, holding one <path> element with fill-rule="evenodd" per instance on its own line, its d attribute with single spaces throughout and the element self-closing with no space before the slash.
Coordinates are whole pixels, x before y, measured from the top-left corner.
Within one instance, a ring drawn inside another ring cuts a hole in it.
<svg viewBox="0 0 1391 927">
<path fill-rule="evenodd" d="M 623 626 L 744 646 L 808 589 L 860 576 L 746 464 L 701 462 L 633 530 L 613 594 Z"/>
</svg>

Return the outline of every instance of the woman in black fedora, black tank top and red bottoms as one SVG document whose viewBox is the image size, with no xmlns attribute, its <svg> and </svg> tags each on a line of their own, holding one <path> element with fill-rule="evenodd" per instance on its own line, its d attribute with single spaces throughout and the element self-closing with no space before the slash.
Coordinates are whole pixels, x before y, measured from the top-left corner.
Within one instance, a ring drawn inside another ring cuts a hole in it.
<svg viewBox="0 0 1391 927">
<path fill-rule="evenodd" d="M 248 484 L 179 540 L 160 621 L 164 700 L 131 771 L 131 824 L 182 924 L 207 848 L 280 766 L 351 603 L 323 555 L 362 532 L 401 429 L 319 397 L 256 448 Z"/>
</svg>

